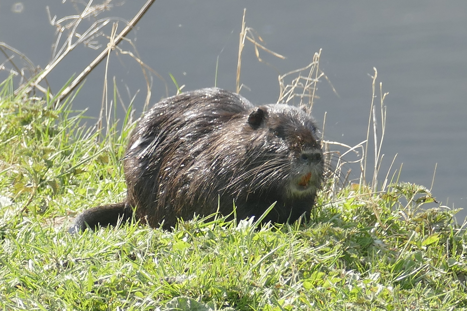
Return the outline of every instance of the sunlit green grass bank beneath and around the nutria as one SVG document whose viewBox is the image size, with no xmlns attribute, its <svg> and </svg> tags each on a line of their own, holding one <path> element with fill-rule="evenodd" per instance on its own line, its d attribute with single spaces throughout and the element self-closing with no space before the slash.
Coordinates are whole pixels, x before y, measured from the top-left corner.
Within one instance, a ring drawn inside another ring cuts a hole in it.
<svg viewBox="0 0 467 311">
<path fill-rule="evenodd" d="M 307 223 L 210 217 L 69 235 L 71 216 L 124 198 L 131 126 L 103 137 L 70 104 L 15 97 L 11 83 L 0 91 L 3 310 L 467 309 L 465 230 L 456 211 L 421 209 L 432 196 L 408 183 L 325 185 Z"/>
</svg>

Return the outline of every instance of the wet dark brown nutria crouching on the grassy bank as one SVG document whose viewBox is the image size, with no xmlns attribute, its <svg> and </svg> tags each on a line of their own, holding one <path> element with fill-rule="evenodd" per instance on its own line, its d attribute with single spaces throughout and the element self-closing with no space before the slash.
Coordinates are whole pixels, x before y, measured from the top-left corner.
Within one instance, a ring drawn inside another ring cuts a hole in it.
<svg viewBox="0 0 467 311">
<path fill-rule="evenodd" d="M 119 217 L 158 227 L 218 209 L 237 219 L 296 221 L 309 215 L 323 175 L 316 125 L 286 104 L 255 107 L 218 88 L 163 99 L 144 114 L 124 156 L 127 198 L 78 215 L 70 232 Z M 218 204 L 219 202 L 219 204 Z M 87 224 L 87 225 L 86 225 Z"/>
</svg>

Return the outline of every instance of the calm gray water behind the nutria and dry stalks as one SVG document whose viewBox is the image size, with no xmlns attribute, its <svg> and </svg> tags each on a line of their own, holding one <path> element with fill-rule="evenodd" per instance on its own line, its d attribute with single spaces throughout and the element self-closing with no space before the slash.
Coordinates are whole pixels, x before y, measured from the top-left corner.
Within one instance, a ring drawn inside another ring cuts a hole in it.
<svg viewBox="0 0 467 311">
<path fill-rule="evenodd" d="M 17 1 L 0 0 L 0 41 L 43 68 L 55 35 L 45 6 L 59 17 L 76 14 L 73 2 L 60 2 L 23 1 L 21 13 L 14 13 L 21 8 Z M 143 3 L 127 1 L 99 18 L 129 20 Z M 278 72 L 307 65 L 322 48 L 320 68 L 338 95 L 322 79 L 313 115 L 322 124 L 327 111 L 326 139 L 355 145 L 366 138 L 370 75 L 376 67 L 378 82 L 389 92 L 383 167 L 397 153 L 395 166 L 403 163 L 401 180 L 430 187 L 437 163 L 433 194 L 443 205 L 466 206 L 467 1 L 158 0 L 128 38 L 142 61 L 167 81 L 169 95 L 176 92 L 169 72 L 185 90 L 212 86 L 218 57 L 217 85 L 234 90 L 243 8 L 247 8 L 247 26 L 261 35 L 269 49 L 287 58 L 262 53 L 272 65 L 267 66 L 256 60 L 247 43 L 241 82 L 248 88 L 242 89 L 242 95 L 256 104 L 276 102 Z M 99 40 L 106 44 L 104 38 Z M 98 54 L 78 47 L 48 77 L 52 91 Z M 0 58 L 0 64 L 3 61 Z M 109 75 L 116 76 L 126 103 L 141 89 L 134 104 L 140 112 L 145 98 L 141 67 L 127 55 L 114 54 L 110 65 Z M 103 76 L 101 64 L 87 78 L 75 108 L 89 108 L 88 115 L 98 115 Z M 154 76 L 152 102 L 165 96 L 164 83 Z M 382 172 L 380 178 L 385 175 Z M 466 214 L 461 212 L 458 219 Z"/>
</svg>

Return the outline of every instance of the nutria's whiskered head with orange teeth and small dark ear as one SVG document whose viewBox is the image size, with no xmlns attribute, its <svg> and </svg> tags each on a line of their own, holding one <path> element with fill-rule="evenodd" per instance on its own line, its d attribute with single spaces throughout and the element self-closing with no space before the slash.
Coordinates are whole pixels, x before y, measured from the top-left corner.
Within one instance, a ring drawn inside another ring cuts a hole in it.
<svg viewBox="0 0 467 311">
<path fill-rule="evenodd" d="M 270 179 L 258 186 L 280 190 L 285 200 L 314 200 L 324 159 L 312 117 L 290 105 L 270 104 L 256 107 L 247 123 L 247 130 L 255 132 L 248 156 L 258 167 L 258 177 L 264 173 Z"/>
</svg>

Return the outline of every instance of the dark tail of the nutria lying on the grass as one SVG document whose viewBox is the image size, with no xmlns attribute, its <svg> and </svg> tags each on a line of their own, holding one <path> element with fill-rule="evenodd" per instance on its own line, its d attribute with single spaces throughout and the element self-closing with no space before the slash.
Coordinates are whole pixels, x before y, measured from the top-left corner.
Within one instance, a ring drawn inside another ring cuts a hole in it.
<svg viewBox="0 0 467 311">
<path fill-rule="evenodd" d="M 68 232 L 78 233 L 89 226 L 92 230 L 96 227 L 115 226 L 119 219 L 126 222 L 133 216 L 133 208 L 126 202 L 107 204 L 85 210 L 75 218 Z"/>
</svg>

